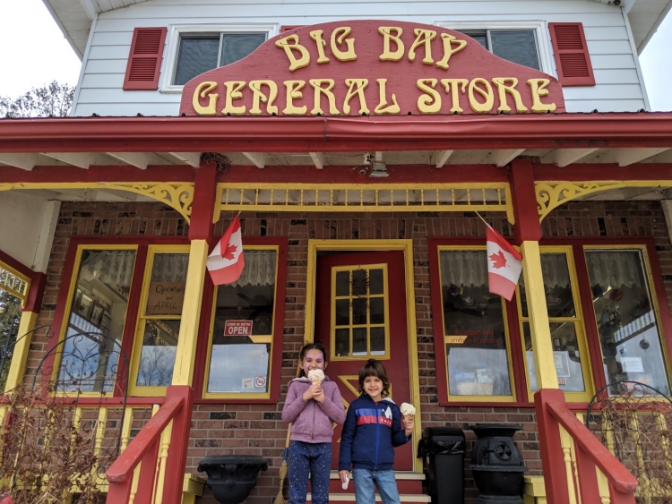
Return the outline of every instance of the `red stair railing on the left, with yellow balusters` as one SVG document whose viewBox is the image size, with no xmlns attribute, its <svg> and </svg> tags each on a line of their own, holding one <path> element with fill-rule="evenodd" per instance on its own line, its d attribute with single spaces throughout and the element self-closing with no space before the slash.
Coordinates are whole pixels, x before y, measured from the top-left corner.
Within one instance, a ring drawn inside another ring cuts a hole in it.
<svg viewBox="0 0 672 504">
<path fill-rule="evenodd" d="M 109 467 L 107 504 L 126 504 L 131 497 L 134 471 L 140 466 L 134 504 L 180 504 L 185 474 L 186 448 L 189 440 L 194 389 L 185 385 L 173 385 L 166 391 L 166 400 L 157 414 L 142 427 L 134 440 Z M 165 460 L 165 477 L 159 477 L 159 444 L 161 434 L 173 422 L 170 434 L 168 457 Z M 162 480 L 162 481 L 161 481 Z M 160 486 L 159 491 L 157 488 Z M 162 493 L 159 502 L 157 494 Z"/>
</svg>

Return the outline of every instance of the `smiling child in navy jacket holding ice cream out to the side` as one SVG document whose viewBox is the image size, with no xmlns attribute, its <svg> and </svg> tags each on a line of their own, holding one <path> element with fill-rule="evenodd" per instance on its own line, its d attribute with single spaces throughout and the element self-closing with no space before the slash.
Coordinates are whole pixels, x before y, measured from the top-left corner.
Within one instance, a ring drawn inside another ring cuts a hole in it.
<svg viewBox="0 0 672 504">
<path fill-rule="evenodd" d="M 375 504 L 374 483 L 383 504 L 400 504 L 392 470 L 394 447 L 409 442 L 413 417 L 402 420 L 399 407 L 387 398 L 390 380 L 380 361 L 369 359 L 359 370 L 359 394 L 340 436 L 340 481 L 347 483 L 352 466 L 357 504 Z"/>
</svg>

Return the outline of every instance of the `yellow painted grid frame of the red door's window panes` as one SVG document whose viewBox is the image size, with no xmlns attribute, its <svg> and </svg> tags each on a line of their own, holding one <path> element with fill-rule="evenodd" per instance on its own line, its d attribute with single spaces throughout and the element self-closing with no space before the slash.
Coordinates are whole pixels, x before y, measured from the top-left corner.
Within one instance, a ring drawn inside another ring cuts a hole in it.
<svg viewBox="0 0 672 504">
<path fill-rule="evenodd" d="M 340 271 L 348 271 L 349 276 L 350 274 L 355 271 L 358 267 L 357 266 L 339 266 L 336 268 L 332 268 L 332 292 L 331 292 L 331 299 L 329 301 L 330 309 L 332 311 L 332 316 L 330 319 L 330 327 L 329 327 L 329 339 L 331 341 L 331 346 L 330 346 L 330 357 L 329 359 L 332 361 L 361 361 L 364 357 L 369 357 L 369 358 L 375 358 L 378 359 L 379 361 L 385 361 L 390 359 L 390 303 L 389 303 L 389 286 L 388 286 L 388 269 L 387 269 L 387 264 L 366 264 L 366 271 L 370 271 L 371 269 L 383 269 L 383 294 L 382 295 L 368 295 L 366 294 L 366 299 L 370 300 L 372 298 L 380 297 L 383 298 L 383 310 L 384 310 L 384 320 L 383 324 L 374 324 L 374 327 L 383 327 L 384 329 L 384 334 L 385 334 L 385 352 L 384 354 L 380 355 L 373 355 L 371 354 L 371 333 L 370 331 L 367 330 L 367 337 L 366 337 L 366 355 L 347 355 L 347 356 L 342 356 L 342 357 L 337 357 L 335 353 L 335 348 L 336 348 L 336 303 L 335 301 L 338 299 L 348 299 L 349 300 L 349 308 L 350 310 L 352 309 L 352 302 L 354 299 L 357 298 L 356 295 L 352 295 L 349 293 L 348 295 L 336 295 L 336 274 Z M 361 268 L 361 265 L 359 265 L 359 268 Z M 368 274 L 368 273 L 367 273 Z M 367 310 L 368 312 L 368 310 Z M 352 353 L 352 350 L 354 349 L 354 330 L 353 329 L 371 329 L 372 324 L 367 320 L 365 324 L 358 324 L 357 328 L 355 327 L 355 324 L 352 323 L 352 319 L 350 319 L 350 323 L 348 326 L 348 329 L 350 331 L 350 339 L 349 339 L 349 349 L 350 353 Z M 344 326 L 341 326 L 339 329 L 343 329 Z"/>
</svg>

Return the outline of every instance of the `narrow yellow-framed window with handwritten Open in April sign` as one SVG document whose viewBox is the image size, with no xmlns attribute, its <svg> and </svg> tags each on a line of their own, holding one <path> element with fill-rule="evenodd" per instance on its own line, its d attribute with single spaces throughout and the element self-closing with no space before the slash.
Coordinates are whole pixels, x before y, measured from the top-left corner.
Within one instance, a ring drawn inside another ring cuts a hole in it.
<svg viewBox="0 0 672 504">
<path fill-rule="evenodd" d="M 184 247 L 150 247 L 142 293 L 142 310 L 134 349 L 134 393 L 152 394 L 173 379 L 180 317 L 185 300 L 188 253 Z M 145 388 L 143 391 L 138 388 Z"/>
</svg>

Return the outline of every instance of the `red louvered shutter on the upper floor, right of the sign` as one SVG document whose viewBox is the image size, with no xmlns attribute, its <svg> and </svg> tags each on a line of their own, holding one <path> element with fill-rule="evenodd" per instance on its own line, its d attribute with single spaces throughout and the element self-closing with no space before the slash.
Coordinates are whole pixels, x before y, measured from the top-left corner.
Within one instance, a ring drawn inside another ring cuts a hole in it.
<svg viewBox="0 0 672 504">
<path fill-rule="evenodd" d="M 590 55 L 580 22 L 549 22 L 558 81 L 563 86 L 594 86 Z"/>
</svg>

